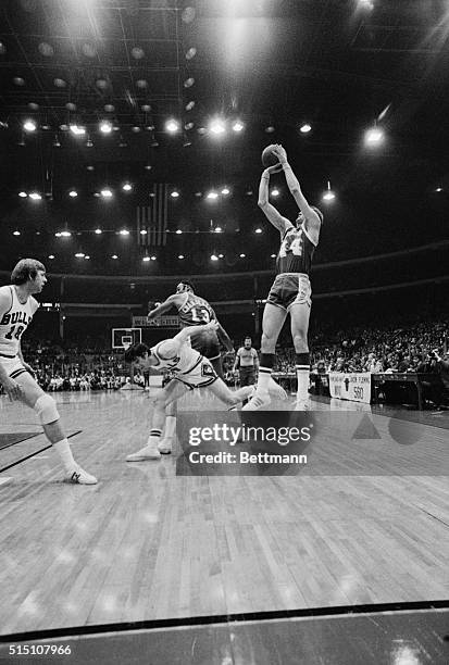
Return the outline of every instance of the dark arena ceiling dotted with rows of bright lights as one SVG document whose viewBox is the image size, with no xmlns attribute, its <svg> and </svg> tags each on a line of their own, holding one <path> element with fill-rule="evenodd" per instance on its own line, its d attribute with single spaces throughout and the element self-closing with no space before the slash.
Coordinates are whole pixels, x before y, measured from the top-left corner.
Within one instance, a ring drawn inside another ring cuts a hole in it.
<svg viewBox="0 0 449 665">
<path fill-rule="evenodd" d="M 211 269 L 211 252 L 224 254 L 214 271 L 240 269 L 240 253 L 249 269 L 270 267 L 277 238 L 257 208 L 270 142 L 325 209 L 321 261 L 447 237 L 448 35 L 446 0 L 3 0 L 0 267 L 35 253 L 54 255 L 57 272 L 192 273 Z M 223 135 L 210 130 L 216 117 Z M 369 148 L 374 124 L 385 140 Z M 164 247 L 136 230 L 154 183 L 179 192 Z M 273 202 L 292 214 L 275 184 Z M 95 197 L 105 186 L 108 202 Z M 322 202 L 329 186 L 336 199 Z M 157 260 L 141 265 L 145 252 Z"/>
</svg>

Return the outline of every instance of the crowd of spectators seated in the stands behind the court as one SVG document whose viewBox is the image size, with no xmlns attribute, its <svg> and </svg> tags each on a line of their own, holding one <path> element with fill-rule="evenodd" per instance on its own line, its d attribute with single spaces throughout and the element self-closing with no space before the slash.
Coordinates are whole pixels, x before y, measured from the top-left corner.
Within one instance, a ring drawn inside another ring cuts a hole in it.
<svg viewBox="0 0 449 665">
<path fill-rule="evenodd" d="M 353 327 L 335 330 L 321 327 L 310 335 L 311 371 L 370 373 L 439 373 L 449 389 L 448 321 L 409 323 L 402 326 Z M 288 339 L 288 337 L 286 338 Z M 236 340 L 238 346 L 238 340 Z M 291 342 L 290 342 L 291 343 Z M 114 352 L 104 339 L 86 338 L 77 342 L 23 340 L 25 360 L 34 368 L 45 390 L 116 390 L 127 380 L 129 368 L 123 352 Z M 234 385 L 233 353 L 224 359 L 226 381 Z M 275 372 L 295 374 L 292 347 L 276 349 Z M 144 377 L 135 377 L 144 385 Z"/>
</svg>

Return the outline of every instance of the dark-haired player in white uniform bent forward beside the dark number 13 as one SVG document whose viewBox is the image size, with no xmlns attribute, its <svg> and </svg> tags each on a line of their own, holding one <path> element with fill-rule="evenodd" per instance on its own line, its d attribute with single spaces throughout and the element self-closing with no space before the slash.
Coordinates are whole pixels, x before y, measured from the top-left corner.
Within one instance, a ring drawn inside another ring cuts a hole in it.
<svg viewBox="0 0 449 665">
<path fill-rule="evenodd" d="M 151 349 L 146 344 L 133 344 L 125 352 L 125 361 L 134 362 L 141 369 L 171 369 L 174 378 L 163 388 L 155 400 L 154 413 L 150 427 L 147 446 L 126 457 L 128 462 L 142 460 L 159 460 L 161 453 L 158 443 L 165 422 L 165 409 L 176 402 L 188 390 L 194 388 L 209 388 L 215 397 L 228 406 L 235 406 L 249 397 L 252 386 L 246 386 L 232 391 L 219 377 L 211 362 L 192 349 L 188 340 L 192 335 L 205 330 L 216 330 L 217 322 L 200 326 L 183 328 L 173 339 L 164 339 Z"/>
</svg>

